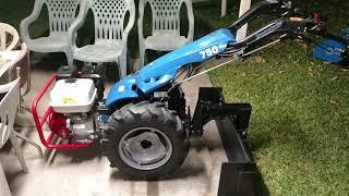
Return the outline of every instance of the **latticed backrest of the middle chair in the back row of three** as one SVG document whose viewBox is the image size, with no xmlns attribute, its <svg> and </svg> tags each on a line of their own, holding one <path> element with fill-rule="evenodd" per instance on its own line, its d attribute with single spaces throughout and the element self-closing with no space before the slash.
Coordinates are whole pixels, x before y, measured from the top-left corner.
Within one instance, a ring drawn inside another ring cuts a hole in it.
<svg viewBox="0 0 349 196">
<path fill-rule="evenodd" d="M 133 0 L 89 0 L 88 5 L 94 13 L 96 40 L 122 39 L 124 17 L 135 12 Z"/>
</svg>

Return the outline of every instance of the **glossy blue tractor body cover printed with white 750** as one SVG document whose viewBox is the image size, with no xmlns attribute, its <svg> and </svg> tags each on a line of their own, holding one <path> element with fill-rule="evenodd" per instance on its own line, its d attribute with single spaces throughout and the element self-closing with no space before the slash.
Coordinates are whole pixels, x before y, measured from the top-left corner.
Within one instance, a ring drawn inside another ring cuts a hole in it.
<svg viewBox="0 0 349 196">
<path fill-rule="evenodd" d="M 135 99 L 137 90 L 149 94 L 172 82 L 177 72 L 191 63 L 206 61 L 226 50 L 236 38 L 229 29 L 218 29 L 148 63 L 140 72 L 113 85 L 106 100 L 107 107 Z"/>
</svg>

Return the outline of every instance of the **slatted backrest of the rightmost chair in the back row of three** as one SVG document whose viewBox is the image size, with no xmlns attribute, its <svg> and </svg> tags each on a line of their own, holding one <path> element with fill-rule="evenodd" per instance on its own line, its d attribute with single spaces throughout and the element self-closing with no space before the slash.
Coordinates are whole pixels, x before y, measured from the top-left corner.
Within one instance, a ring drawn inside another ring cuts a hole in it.
<svg viewBox="0 0 349 196">
<path fill-rule="evenodd" d="M 183 0 L 145 0 L 151 4 L 153 15 L 153 34 L 169 32 L 180 34 L 180 9 Z"/>
</svg>

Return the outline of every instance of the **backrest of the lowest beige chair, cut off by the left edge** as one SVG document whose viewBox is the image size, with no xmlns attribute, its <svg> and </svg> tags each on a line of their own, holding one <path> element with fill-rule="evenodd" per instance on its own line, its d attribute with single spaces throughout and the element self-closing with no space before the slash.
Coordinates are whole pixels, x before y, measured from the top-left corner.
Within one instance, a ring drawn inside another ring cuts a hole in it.
<svg viewBox="0 0 349 196">
<path fill-rule="evenodd" d="M 20 78 L 0 85 L 0 148 L 7 143 L 13 131 L 15 114 L 20 105 Z"/>
</svg>

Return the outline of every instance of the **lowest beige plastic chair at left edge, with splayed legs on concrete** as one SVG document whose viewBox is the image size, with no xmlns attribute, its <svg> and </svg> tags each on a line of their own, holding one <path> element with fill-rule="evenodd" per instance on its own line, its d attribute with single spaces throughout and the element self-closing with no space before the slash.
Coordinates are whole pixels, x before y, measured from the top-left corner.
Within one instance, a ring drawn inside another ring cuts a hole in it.
<svg viewBox="0 0 349 196">
<path fill-rule="evenodd" d="M 0 148 L 7 143 L 10 138 L 15 154 L 20 160 L 20 163 L 23 168 L 24 172 L 28 172 L 28 167 L 25 163 L 23 152 L 21 150 L 21 146 L 17 143 L 16 137 L 24 139 L 26 143 L 35 146 L 43 157 L 41 148 L 32 142 L 31 139 L 24 137 L 20 133 L 16 133 L 13 130 L 14 119 L 16 115 L 16 111 L 20 105 L 20 78 L 8 83 L 5 85 L 0 85 L 0 95 L 4 95 L 0 100 Z"/>
</svg>

